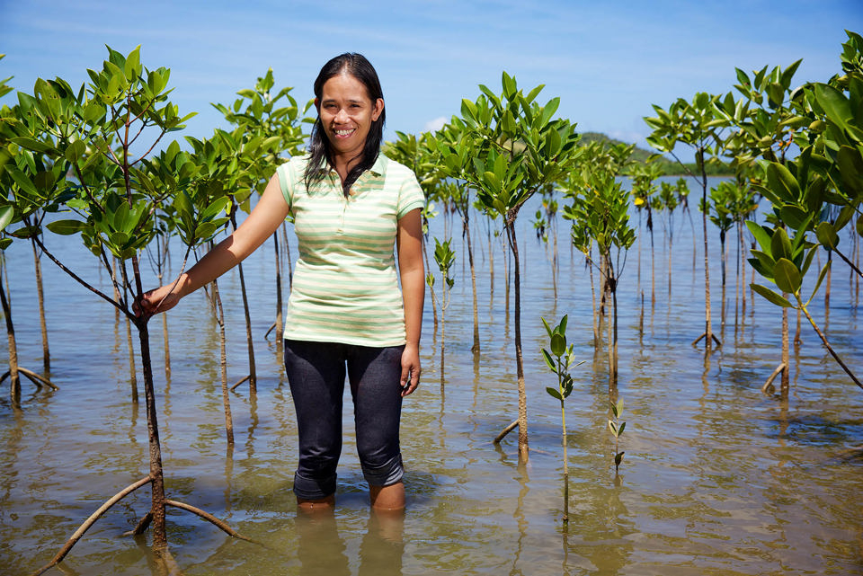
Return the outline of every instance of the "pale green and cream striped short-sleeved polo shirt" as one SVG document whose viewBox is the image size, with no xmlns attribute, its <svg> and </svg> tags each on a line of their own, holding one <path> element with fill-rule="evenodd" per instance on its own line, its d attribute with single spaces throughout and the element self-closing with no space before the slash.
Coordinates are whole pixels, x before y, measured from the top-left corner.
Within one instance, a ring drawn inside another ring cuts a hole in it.
<svg viewBox="0 0 863 576">
<path fill-rule="evenodd" d="M 335 171 L 307 190 L 307 156 L 277 169 L 294 217 L 299 258 L 284 337 L 360 346 L 405 343 L 396 275 L 398 219 L 425 203 L 414 173 L 384 155 L 344 197 Z"/>
</svg>

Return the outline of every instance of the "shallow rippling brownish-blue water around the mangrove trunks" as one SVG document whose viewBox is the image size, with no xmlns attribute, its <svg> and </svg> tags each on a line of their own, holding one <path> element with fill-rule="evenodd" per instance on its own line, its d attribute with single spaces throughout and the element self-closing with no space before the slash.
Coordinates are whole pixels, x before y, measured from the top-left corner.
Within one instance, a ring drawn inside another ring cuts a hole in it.
<svg viewBox="0 0 863 576">
<path fill-rule="evenodd" d="M 280 350 L 262 337 L 275 306 L 271 245 L 245 264 L 259 382 L 256 397 L 245 385 L 231 394 L 232 451 L 221 411 L 218 331 L 205 298 L 188 297 L 168 315 L 169 380 L 161 323 L 151 323 L 169 497 L 208 510 L 266 545 L 234 540 L 191 514 L 169 510 L 170 550 L 184 573 L 863 572 L 863 458 L 845 452 L 863 443 L 863 391 L 832 361 L 805 320 L 803 344 L 792 349 L 789 398 L 762 394 L 761 384 L 779 359 L 778 308 L 763 299 L 753 302 L 747 293 L 746 315 L 735 326 L 732 248 L 724 325 L 719 266 L 711 265 L 713 325 L 723 346 L 705 359 L 703 350 L 690 344 L 704 330 L 704 288 L 700 244 L 693 269 L 689 220 L 675 214 L 671 300 L 666 251 L 657 250 L 653 307 L 645 232 L 640 279 L 636 244 L 619 288 L 618 393 L 625 401 L 627 429 L 616 480 L 606 426 L 607 368 L 604 356 L 593 353 L 587 270 L 566 245 L 561 221 L 555 297 L 547 248 L 530 226 L 535 210 L 526 207 L 520 216 L 529 464 L 518 463 L 515 433 L 500 447 L 491 441 L 517 413 L 513 314 L 505 302 L 501 245 L 494 244 L 493 291 L 485 226 L 475 217 L 482 353 L 475 360 L 469 350 L 470 282 L 457 235 L 461 260 L 446 311 L 443 365 L 441 329 L 435 334 L 427 298 L 423 384 L 405 402 L 404 518 L 370 515 L 348 413 L 334 517 L 298 518 L 290 492 L 296 465 L 293 406 Z M 657 220 L 661 246 L 663 227 Z M 440 235 L 442 226 L 439 217 L 432 234 Z M 62 259 L 80 262 L 77 270 L 108 286 L 76 242 L 55 237 L 50 243 Z M 715 230 L 710 243 L 718 252 Z M 6 255 L 19 359 L 41 371 L 30 248 L 16 243 Z M 173 259 L 179 269 L 179 251 Z M 0 572 L 12 575 L 47 563 L 103 501 L 147 474 L 146 418 L 143 406 L 129 400 L 124 323 L 49 261 L 43 260 L 43 267 L 51 377 L 60 390 L 36 391 L 24 381 L 18 410 L 6 399 L 4 384 L 0 402 Z M 247 371 L 237 287 L 235 272 L 221 282 L 230 383 Z M 812 308 L 834 348 L 863 373 L 859 295 L 841 262 L 834 262 L 829 314 L 823 293 Z M 564 314 L 570 317 L 577 357 L 586 360 L 574 370 L 575 390 L 566 403 L 571 483 L 566 528 L 560 410 L 544 390 L 554 380 L 538 353 L 547 346 L 539 317 L 556 321 Z M 792 332 L 794 321 L 792 315 Z M 4 347 L 0 360 L 5 362 L 6 354 Z M 147 501 L 145 489 L 117 504 L 75 546 L 63 571 L 156 573 L 147 546 L 121 536 L 147 511 Z"/>
</svg>

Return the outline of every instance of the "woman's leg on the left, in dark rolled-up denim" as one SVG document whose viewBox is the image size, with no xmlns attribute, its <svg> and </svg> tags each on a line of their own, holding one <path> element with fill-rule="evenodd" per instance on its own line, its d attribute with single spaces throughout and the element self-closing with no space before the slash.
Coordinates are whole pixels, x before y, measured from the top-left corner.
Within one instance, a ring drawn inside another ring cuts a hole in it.
<svg viewBox="0 0 863 576">
<path fill-rule="evenodd" d="M 285 370 L 297 411 L 299 461 L 294 493 L 301 509 L 332 508 L 342 454 L 344 346 L 285 341 Z"/>
</svg>

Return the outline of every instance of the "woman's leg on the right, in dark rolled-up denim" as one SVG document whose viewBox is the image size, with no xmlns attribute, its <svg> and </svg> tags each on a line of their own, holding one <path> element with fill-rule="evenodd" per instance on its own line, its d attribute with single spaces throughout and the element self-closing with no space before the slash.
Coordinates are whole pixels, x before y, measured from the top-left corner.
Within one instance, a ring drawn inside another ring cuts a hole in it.
<svg viewBox="0 0 863 576">
<path fill-rule="evenodd" d="M 405 508 L 404 468 L 398 440 L 403 348 L 351 346 L 347 354 L 357 452 L 369 483 L 372 506 L 382 510 Z"/>
</svg>

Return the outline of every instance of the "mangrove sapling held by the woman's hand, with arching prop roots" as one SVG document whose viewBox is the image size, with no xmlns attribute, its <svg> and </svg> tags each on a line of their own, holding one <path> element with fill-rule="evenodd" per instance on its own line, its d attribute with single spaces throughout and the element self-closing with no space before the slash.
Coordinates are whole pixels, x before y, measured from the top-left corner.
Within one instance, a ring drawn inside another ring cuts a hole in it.
<svg viewBox="0 0 863 576">
<path fill-rule="evenodd" d="M 158 554 L 167 547 L 167 498 L 147 325 L 149 317 L 138 315 L 134 303 L 144 292 L 139 253 L 156 237 L 155 220 L 159 208 L 172 196 L 182 196 L 182 190 L 196 172 L 195 165 L 180 152 L 175 142 L 162 153 L 160 161 L 153 163 L 146 157 L 167 132 L 182 128 L 182 123 L 190 116 L 180 117 L 176 107 L 167 100 L 165 89 L 170 74 L 167 69 L 147 70 L 140 64 L 139 48 L 128 56 L 110 48 L 108 51 L 109 59 L 103 63 L 102 70 L 88 71 L 92 84 L 87 87 L 74 91 L 60 78 L 39 79 L 34 86 L 35 95 L 22 94 L 18 120 L 29 133 L 13 140 L 19 146 L 49 155 L 55 164 L 62 166 L 64 177 L 67 173 L 75 175 L 75 182 L 67 184 L 70 188 L 74 186 L 77 196 L 65 199 L 64 206 L 81 219 L 56 220 L 49 223 L 49 230 L 59 235 L 80 234 L 85 246 L 106 270 L 111 270 L 111 257 L 120 261 L 120 275 L 113 277 L 119 297 L 114 299 L 68 268 L 42 243 L 39 235 L 33 236 L 40 250 L 61 270 L 119 309 L 138 329 L 147 410 L 149 473 L 106 502 L 37 573 L 60 562 L 76 538 L 112 502 L 147 484 L 151 492 L 150 510 L 138 523 L 136 533 L 152 524 L 154 550 Z M 155 130 L 152 144 L 136 159 L 132 155 L 132 143 L 147 128 Z M 30 182 L 31 187 L 39 191 L 44 180 L 37 178 Z M 190 223 L 193 234 L 203 236 L 203 240 L 215 234 L 225 222 L 225 218 L 218 218 L 222 206 L 218 203 L 196 206 Z M 210 213 L 205 217 L 207 210 Z M 22 221 L 25 226 L 31 226 L 27 215 L 22 215 Z M 129 261 L 131 275 L 126 268 Z"/>
</svg>

